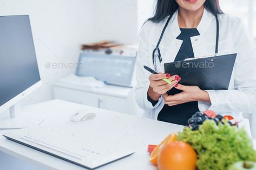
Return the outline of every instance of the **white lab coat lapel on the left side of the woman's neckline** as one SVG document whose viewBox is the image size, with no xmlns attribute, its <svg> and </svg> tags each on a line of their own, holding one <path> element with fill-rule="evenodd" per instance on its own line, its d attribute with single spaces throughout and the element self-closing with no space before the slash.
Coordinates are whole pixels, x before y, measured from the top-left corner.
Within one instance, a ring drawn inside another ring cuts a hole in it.
<svg viewBox="0 0 256 170">
<path fill-rule="evenodd" d="M 169 49 L 167 50 L 164 56 L 164 63 L 173 62 L 176 55 L 178 54 L 182 40 L 176 39 L 180 35 L 180 27 L 178 23 L 178 10 L 173 14 L 172 18 L 170 19 L 170 23 L 166 29 L 166 36 L 169 36 L 171 39 L 171 43 Z"/>
</svg>

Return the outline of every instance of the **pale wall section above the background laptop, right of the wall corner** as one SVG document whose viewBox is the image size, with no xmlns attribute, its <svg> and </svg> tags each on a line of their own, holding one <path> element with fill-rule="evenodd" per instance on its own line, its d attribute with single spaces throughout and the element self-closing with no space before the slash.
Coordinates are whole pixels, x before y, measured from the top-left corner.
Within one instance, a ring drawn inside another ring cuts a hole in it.
<svg viewBox="0 0 256 170">
<path fill-rule="evenodd" d="M 93 41 L 115 40 L 118 43 L 137 42 L 137 0 L 93 1 Z"/>
</svg>

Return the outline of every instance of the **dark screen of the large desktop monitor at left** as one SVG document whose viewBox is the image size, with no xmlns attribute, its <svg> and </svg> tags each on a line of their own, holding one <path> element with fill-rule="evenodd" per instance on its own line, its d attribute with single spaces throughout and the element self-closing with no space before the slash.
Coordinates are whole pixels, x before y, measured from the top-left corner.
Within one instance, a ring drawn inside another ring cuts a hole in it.
<svg viewBox="0 0 256 170">
<path fill-rule="evenodd" d="M 0 107 L 38 81 L 29 16 L 0 16 Z"/>
</svg>

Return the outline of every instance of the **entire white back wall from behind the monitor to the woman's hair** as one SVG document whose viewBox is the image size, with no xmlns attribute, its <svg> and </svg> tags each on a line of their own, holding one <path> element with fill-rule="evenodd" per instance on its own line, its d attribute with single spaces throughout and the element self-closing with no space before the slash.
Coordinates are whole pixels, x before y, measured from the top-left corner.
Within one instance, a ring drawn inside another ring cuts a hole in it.
<svg viewBox="0 0 256 170">
<path fill-rule="evenodd" d="M 0 15 L 30 16 L 43 80 L 43 86 L 22 104 L 52 99 L 52 82 L 74 71 L 81 44 L 106 39 L 137 43 L 141 25 L 152 16 L 153 1 L 2 0 Z"/>
</svg>

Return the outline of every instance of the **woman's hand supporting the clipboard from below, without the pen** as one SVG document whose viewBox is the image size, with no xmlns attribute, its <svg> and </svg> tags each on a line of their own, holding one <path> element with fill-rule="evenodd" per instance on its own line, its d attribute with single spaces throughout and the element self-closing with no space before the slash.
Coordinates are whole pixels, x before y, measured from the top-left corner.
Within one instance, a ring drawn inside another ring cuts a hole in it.
<svg viewBox="0 0 256 170">
<path fill-rule="evenodd" d="M 165 104 L 168 106 L 179 105 L 190 101 L 205 101 L 211 103 L 208 92 L 201 90 L 198 86 L 184 86 L 177 84 L 175 88 L 182 90 L 182 92 L 173 96 L 168 96 L 167 93 L 163 95 Z"/>
</svg>

